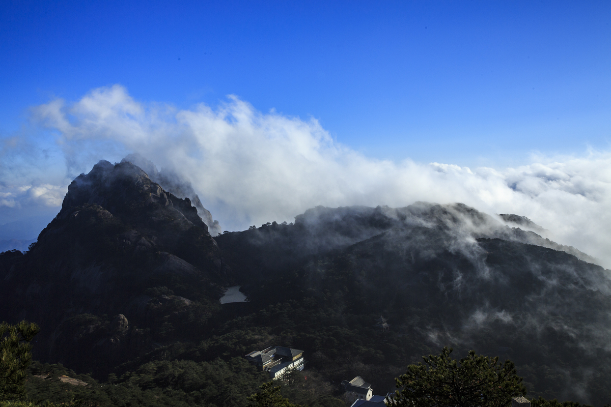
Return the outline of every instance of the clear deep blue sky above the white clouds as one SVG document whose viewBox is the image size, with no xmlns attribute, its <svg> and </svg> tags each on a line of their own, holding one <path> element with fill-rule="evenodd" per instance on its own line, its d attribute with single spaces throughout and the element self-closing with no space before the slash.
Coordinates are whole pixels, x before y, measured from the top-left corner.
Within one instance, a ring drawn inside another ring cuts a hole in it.
<svg viewBox="0 0 611 407">
<path fill-rule="evenodd" d="M 609 148 L 611 3 L 30 2 L 0 8 L 0 131 L 121 84 L 142 101 L 315 117 L 382 159 Z"/>
</svg>

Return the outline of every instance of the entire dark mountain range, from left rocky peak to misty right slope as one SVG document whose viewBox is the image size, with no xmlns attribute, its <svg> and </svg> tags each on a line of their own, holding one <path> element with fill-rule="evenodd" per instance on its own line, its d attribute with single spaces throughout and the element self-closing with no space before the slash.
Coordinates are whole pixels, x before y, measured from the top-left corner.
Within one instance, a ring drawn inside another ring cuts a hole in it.
<svg viewBox="0 0 611 407">
<path fill-rule="evenodd" d="M 40 361 L 127 381 L 283 345 L 305 350 L 331 397 L 354 375 L 390 391 L 406 364 L 452 345 L 510 358 L 530 395 L 611 398 L 610 272 L 521 215 L 317 206 L 213 237 L 189 184 L 130 158 L 78 176 L 34 247 L 0 254 L 0 315 L 42 326 Z M 233 285 L 249 301 L 221 306 Z"/>
</svg>

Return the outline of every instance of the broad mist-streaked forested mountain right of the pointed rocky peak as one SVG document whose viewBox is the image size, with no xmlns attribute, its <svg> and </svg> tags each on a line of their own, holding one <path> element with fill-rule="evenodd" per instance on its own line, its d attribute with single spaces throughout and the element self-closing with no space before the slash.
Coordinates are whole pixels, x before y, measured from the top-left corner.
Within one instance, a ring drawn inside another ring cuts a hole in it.
<svg viewBox="0 0 611 407">
<path fill-rule="evenodd" d="M 510 357 L 534 394 L 611 397 L 611 273 L 535 232 L 463 204 L 415 203 L 316 207 L 217 241 L 252 304 L 314 300 L 347 327 L 384 315 L 390 337 Z"/>
</svg>

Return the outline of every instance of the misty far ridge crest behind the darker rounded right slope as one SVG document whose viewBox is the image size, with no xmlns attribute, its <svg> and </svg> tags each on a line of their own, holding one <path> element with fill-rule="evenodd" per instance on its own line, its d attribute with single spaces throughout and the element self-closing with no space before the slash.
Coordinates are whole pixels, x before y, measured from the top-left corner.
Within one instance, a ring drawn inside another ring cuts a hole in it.
<svg viewBox="0 0 611 407">
<path fill-rule="evenodd" d="M 595 262 L 576 248 L 558 245 L 530 230 L 506 226 L 495 217 L 459 203 L 417 202 L 403 208 L 317 206 L 296 216 L 295 225 L 273 222 L 227 233 L 216 240 L 228 261 L 235 265 L 236 272 L 252 279 L 261 270 L 296 265 L 309 256 L 343 249 L 392 229 L 409 231 L 417 227 L 444 230 L 454 245 L 463 245 L 466 240 L 498 238 L 566 251 L 584 261 Z"/>
</svg>

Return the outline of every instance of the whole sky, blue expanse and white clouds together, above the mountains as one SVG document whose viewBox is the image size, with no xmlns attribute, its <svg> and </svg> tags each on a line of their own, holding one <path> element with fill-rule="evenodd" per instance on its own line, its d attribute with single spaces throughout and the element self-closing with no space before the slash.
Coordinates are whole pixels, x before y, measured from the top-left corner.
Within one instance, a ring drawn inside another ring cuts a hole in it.
<svg viewBox="0 0 611 407">
<path fill-rule="evenodd" d="M 610 140 L 607 1 L 1 2 L 0 240 L 138 152 L 224 229 L 461 201 L 611 265 Z"/>
</svg>

